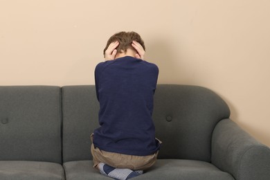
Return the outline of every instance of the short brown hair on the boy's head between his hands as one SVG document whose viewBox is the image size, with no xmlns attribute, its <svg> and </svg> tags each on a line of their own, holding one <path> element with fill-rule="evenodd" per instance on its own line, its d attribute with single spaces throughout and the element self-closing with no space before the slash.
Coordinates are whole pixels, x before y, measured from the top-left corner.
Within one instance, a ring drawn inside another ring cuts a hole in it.
<svg viewBox="0 0 270 180">
<path fill-rule="evenodd" d="M 132 32 L 120 32 L 120 33 L 116 33 L 114 35 L 112 35 L 108 42 L 106 47 L 104 48 L 103 51 L 103 55 L 105 56 L 105 51 L 107 50 L 109 44 L 111 44 L 112 42 L 119 42 L 119 45 L 117 46 L 116 50 L 118 53 L 120 52 L 127 52 L 127 48 L 132 48 L 135 50 L 134 47 L 132 47 L 132 41 L 136 41 L 139 44 L 141 44 L 141 46 L 143 46 L 143 49 L 145 50 L 145 44 L 143 42 L 143 39 L 141 39 L 141 36 L 138 35 L 138 33 L 135 33 L 134 31 Z"/>
</svg>

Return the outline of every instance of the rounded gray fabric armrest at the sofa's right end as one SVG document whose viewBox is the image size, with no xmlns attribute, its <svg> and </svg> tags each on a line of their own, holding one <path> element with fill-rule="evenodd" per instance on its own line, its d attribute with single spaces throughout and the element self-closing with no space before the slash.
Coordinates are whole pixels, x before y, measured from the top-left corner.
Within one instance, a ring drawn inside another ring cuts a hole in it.
<svg viewBox="0 0 270 180">
<path fill-rule="evenodd" d="M 219 121 L 212 137 L 211 161 L 237 180 L 270 179 L 270 149 L 231 119 Z"/>
</svg>

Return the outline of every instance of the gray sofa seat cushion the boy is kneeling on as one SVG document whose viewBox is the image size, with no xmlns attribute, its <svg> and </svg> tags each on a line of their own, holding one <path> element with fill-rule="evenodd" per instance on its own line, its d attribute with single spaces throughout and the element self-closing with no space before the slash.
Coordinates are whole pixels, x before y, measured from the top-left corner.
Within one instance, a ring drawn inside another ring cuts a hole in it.
<svg viewBox="0 0 270 180">
<path fill-rule="evenodd" d="M 64 163 L 66 179 L 109 179 L 93 167 L 92 161 L 71 161 Z M 204 161 L 158 159 L 156 163 L 135 179 L 208 179 L 232 180 L 231 174 L 222 172 L 215 165 Z"/>
</svg>

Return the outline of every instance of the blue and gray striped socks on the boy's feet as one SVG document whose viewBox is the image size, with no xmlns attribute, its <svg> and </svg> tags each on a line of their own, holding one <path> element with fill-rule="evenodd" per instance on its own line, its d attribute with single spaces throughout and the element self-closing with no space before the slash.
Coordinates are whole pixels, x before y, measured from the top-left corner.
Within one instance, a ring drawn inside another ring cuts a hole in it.
<svg viewBox="0 0 270 180">
<path fill-rule="evenodd" d="M 99 163 L 98 169 L 100 170 L 100 174 L 119 180 L 131 179 L 132 177 L 137 177 L 138 175 L 143 174 L 143 170 L 134 171 L 129 169 L 113 168 L 105 163 Z"/>
</svg>

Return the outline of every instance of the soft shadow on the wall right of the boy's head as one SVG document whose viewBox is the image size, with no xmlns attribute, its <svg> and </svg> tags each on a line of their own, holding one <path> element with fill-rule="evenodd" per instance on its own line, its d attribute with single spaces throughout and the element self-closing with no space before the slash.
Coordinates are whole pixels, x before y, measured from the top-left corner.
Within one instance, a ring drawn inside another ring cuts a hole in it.
<svg viewBox="0 0 270 180">
<path fill-rule="evenodd" d="M 181 82 L 181 67 L 178 65 L 181 60 L 177 57 L 177 52 L 170 48 L 169 40 L 153 39 L 146 44 L 146 60 L 159 66 L 159 84 Z"/>
</svg>

